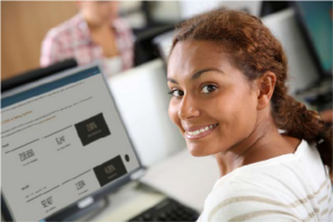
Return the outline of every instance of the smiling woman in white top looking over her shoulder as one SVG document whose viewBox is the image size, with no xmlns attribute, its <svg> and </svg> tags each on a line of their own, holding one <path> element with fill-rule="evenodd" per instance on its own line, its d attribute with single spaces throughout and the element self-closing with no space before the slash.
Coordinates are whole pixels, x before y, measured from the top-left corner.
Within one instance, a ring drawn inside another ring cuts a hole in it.
<svg viewBox="0 0 333 222">
<path fill-rule="evenodd" d="M 280 42 L 248 13 L 219 9 L 178 27 L 169 114 L 221 172 L 199 221 L 333 220 L 333 129 L 287 95 L 286 70 Z"/>
</svg>

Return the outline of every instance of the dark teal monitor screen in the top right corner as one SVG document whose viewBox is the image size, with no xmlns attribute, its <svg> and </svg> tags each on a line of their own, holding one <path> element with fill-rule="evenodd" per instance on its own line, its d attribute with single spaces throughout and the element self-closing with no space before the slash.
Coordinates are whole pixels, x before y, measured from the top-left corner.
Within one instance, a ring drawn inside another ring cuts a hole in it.
<svg viewBox="0 0 333 222">
<path fill-rule="evenodd" d="M 333 77 L 333 1 L 290 0 L 322 78 Z"/>
</svg>

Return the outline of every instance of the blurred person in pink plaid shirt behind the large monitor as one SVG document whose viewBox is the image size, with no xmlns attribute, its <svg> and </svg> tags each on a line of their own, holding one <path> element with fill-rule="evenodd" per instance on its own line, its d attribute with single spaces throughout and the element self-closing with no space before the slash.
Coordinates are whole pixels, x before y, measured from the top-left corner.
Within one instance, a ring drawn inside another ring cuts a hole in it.
<svg viewBox="0 0 333 222">
<path fill-rule="evenodd" d="M 79 13 L 51 29 L 41 47 L 41 67 L 73 58 L 79 65 L 101 60 L 105 73 L 133 65 L 133 34 L 118 16 L 119 0 L 75 0 Z"/>
</svg>

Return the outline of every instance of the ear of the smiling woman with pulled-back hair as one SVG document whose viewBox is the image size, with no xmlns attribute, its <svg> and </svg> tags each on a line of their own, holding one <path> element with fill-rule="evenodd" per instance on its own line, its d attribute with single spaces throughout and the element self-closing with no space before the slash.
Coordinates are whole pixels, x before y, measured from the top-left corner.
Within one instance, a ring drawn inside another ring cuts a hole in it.
<svg viewBox="0 0 333 222">
<path fill-rule="evenodd" d="M 268 71 L 256 81 L 258 89 L 258 110 L 262 110 L 270 104 L 276 83 L 276 75 Z"/>
</svg>

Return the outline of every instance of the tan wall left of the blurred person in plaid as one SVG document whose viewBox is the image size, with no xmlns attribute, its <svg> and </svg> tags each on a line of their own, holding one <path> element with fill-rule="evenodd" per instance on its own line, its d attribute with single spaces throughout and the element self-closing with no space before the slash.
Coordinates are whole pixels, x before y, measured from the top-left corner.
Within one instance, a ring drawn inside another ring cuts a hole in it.
<svg viewBox="0 0 333 222">
<path fill-rule="evenodd" d="M 74 0 L 0 0 L 0 80 L 38 68 L 47 31 L 75 13 Z"/>
</svg>

